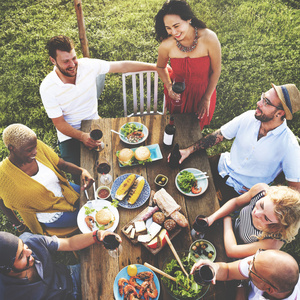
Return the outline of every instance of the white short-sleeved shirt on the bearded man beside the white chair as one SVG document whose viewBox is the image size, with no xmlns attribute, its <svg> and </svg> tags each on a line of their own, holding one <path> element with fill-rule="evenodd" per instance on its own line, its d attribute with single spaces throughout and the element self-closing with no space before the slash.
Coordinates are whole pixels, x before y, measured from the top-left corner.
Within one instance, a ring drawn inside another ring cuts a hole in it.
<svg viewBox="0 0 300 300">
<path fill-rule="evenodd" d="M 63 116 L 75 129 L 80 129 L 82 120 L 98 119 L 96 77 L 109 72 L 109 62 L 92 58 L 78 59 L 75 84 L 63 83 L 55 69 L 56 67 L 40 86 L 48 117 L 52 119 Z M 59 130 L 57 137 L 60 142 L 71 139 Z"/>
</svg>

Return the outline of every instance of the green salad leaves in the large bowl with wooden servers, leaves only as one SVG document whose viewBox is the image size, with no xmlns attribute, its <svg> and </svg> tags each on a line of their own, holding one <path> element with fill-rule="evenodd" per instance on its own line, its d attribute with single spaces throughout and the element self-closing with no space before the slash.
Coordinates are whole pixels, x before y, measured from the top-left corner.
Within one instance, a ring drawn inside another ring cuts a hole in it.
<svg viewBox="0 0 300 300">
<path fill-rule="evenodd" d="M 185 270 L 190 273 L 195 263 L 191 255 L 188 254 L 187 256 L 181 258 L 181 262 Z M 180 299 L 199 299 L 201 293 L 205 291 L 202 286 L 198 285 L 194 281 L 193 275 L 190 275 L 189 280 L 187 279 L 176 259 L 172 259 L 165 266 L 163 271 L 177 279 L 175 282 L 166 277 L 162 278 L 164 285 L 175 297 L 179 297 Z M 180 285 L 178 283 L 180 283 Z"/>
</svg>

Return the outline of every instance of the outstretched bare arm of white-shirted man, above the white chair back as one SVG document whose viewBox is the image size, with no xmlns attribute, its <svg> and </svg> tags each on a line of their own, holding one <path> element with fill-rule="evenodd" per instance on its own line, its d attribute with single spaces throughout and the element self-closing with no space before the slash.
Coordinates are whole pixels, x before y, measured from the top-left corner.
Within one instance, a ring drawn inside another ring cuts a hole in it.
<svg viewBox="0 0 300 300">
<path fill-rule="evenodd" d="M 109 73 L 156 71 L 156 65 L 139 61 L 110 61 Z"/>
</svg>

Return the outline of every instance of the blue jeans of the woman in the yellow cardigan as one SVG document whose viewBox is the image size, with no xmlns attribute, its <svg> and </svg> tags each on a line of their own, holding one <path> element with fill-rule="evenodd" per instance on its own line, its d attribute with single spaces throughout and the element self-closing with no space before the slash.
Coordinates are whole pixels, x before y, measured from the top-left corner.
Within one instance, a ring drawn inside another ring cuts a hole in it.
<svg viewBox="0 0 300 300">
<path fill-rule="evenodd" d="M 71 187 L 75 190 L 75 192 L 80 193 L 80 186 L 69 182 Z M 79 200 L 75 203 L 74 207 L 76 208 L 75 211 L 65 211 L 63 212 L 62 216 L 52 223 L 44 223 L 46 227 L 51 228 L 62 228 L 62 227 L 75 227 L 77 226 L 77 215 L 79 212 Z"/>
</svg>

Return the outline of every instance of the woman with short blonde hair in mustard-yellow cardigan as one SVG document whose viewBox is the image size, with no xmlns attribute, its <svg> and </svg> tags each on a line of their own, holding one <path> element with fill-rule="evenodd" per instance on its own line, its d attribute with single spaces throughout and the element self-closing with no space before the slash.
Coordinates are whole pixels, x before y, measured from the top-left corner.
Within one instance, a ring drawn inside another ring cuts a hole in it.
<svg viewBox="0 0 300 300">
<path fill-rule="evenodd" d="M 89 172 L 59 158 L 36 134 L 23 124 L 9 125 L 3 131 L 9 156 L 0 163 L 0 207 L 22 232 L 43 233 L 49 227 L 76 224 L 79 186 L 68 182 L 64 172 L 81 175 L 83 188 L 94 179 Z M 13 210 L 18 211 L 22 225 Z"/>
</svg>

